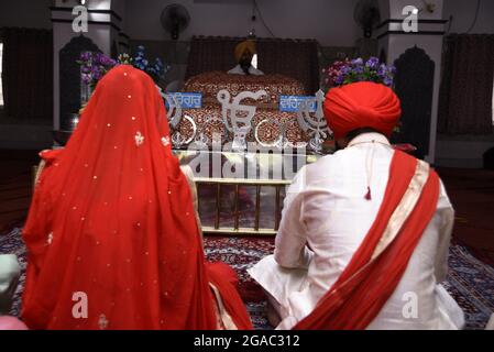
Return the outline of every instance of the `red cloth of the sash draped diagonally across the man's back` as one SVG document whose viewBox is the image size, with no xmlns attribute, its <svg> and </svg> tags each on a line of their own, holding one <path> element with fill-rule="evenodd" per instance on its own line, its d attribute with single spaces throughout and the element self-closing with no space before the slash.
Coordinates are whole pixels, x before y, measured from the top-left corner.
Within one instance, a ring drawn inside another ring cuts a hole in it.
<svg viewBox="0 0 494 352">
<path fill-rule="evenodd" d="M 396 239 L 372 263 L 371 256 L 414 176 L 417 160 L 396 151 L 376 220 L 337 283 L 294 329 L 361 330 L 378 315 L 398 285 L 408 261 L 436 212 L 439 177 L 430 170 L 420 198 Z"/>
</svg>

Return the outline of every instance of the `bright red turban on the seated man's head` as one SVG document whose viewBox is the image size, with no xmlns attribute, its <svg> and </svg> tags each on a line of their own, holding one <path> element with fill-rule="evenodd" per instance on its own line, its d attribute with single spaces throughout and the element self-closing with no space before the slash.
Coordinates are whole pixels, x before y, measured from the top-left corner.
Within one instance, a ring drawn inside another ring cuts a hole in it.
<svg viewBox="0 0 494 352">
<path fill-rule="evenodd" d="M 330 89 L 323 110 L 336 140 L 362 128 L 374 129 L 389 138 L 402 116 L 399 99 L 393 90 L 371 81 Z"/>
</svg>

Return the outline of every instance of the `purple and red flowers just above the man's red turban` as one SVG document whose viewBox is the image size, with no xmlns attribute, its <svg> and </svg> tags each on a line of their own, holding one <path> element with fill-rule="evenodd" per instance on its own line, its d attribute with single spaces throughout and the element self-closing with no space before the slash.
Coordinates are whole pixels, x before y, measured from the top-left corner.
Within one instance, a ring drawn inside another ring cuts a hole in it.
<svg viewBox="0 0 494 352">
<path fill-rule="evenodd" d="M 362 58 L 334 62 L 328 68 L 322 69 L 323 80 L 328 88 L 349 85 L 356 81 L 374 81 L 393 87 L 395 66 L 380 63 L 377 57 L 371 57 L 366 62 Z"/>
</svg>

